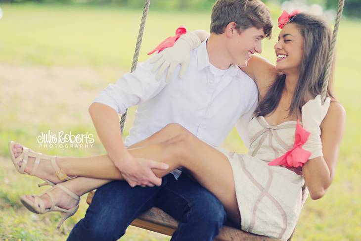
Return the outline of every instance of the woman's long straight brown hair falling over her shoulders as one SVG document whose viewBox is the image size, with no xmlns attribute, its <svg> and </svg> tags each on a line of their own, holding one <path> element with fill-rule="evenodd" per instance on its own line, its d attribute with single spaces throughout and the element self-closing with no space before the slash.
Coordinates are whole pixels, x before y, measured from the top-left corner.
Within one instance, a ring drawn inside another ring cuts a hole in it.
<svg viewBox="0 0 361 241">
<path fill-rule="evenodd" d="M 298 13 L 291 23 L 297 26 L 304 38 L 304 52 L 300 66 L 300 77 L 292 97 L 289 115 L 301 110 L 307 101 L 308 94 L 312 96 L 321 94 L 326 73 L 327 54 L 331 46 L 331 30 L 320 17 L 308 13 Z M 266 116 L 277 108 L 285 80 L 285 74 L 277 76 L 266 96 L 258 105 L 255 111 L 256 116 Z M 330 84 L 327 89 L 327 96 L 333 97 Z"/>
</svg>

